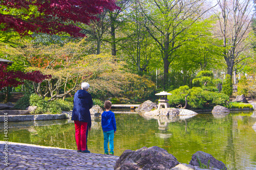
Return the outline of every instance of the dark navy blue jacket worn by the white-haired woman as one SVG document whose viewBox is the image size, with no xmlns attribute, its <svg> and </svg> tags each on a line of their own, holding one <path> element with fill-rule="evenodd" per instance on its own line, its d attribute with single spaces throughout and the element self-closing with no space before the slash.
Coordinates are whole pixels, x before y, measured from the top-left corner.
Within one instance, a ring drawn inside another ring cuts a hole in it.
<svg viewBox="0 0 256 170">
<path fill-rule="evenodd" d="M 91 128 L 92 120 L 90 109 L 93 107 L 92 95 L 86 90 L 77 90 L 74 96 L 74 108 L 71 120 L 87 122 Z"/>
</svg>

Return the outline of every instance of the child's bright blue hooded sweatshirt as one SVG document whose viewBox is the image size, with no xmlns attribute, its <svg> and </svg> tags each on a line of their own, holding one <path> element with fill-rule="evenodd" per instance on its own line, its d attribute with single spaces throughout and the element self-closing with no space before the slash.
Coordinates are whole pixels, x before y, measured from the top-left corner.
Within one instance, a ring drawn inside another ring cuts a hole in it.
<svg viewBox="0 0 256 170">
<path fill-rule="evenodd" d="M 116 119 L 112 111 L 104 111 L 101 114 L 101 126 L 103 131 L 116 131 Z"/>
</svg>

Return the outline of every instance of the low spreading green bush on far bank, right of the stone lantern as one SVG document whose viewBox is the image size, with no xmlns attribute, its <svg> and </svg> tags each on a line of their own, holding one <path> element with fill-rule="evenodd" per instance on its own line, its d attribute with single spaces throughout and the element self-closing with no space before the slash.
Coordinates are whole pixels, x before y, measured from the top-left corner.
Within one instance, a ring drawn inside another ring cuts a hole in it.
<svg viewBox="0 0 256 170">
<path fill-rule="evenodd" d="M 185 105 L 185 95 L 187 96 L 187 108 L 208 109 L 216 105 L 225 106 L 229 101 L 229 96 L 223 93 L 203 90 L 201 87 L 181 86 L 179 89 L 170 91 L 173 95 L 168 95 L 170 107 L 177 107 L 179 104 Z"/>
</svg>

